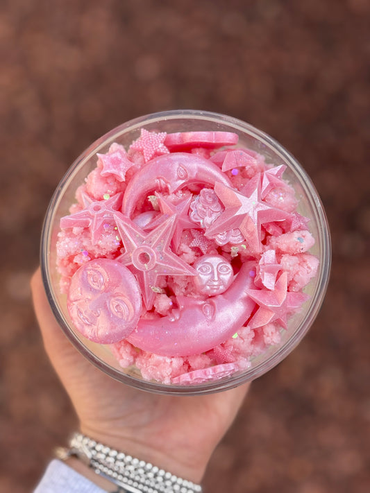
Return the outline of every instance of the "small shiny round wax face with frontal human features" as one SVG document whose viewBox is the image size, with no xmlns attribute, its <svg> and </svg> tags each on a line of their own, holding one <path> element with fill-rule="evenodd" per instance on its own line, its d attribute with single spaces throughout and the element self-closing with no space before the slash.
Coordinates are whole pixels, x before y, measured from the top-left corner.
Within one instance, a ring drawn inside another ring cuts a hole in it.
<svg viewBox="0 0 370 493">
<path fill-rule="evenodd" d="M 224 293 L 233 282 L 233 268 L 221 255 L 203 255 L 193 267 L 196 270 L 194 287 L 202 295 L 214 296 Z"/>
</svg>

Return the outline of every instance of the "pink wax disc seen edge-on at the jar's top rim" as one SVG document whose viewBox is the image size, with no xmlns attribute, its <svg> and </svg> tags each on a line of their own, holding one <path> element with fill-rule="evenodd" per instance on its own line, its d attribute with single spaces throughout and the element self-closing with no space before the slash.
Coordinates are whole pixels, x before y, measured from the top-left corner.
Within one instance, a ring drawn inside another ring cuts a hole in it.
<svg viewBox="0 0 370 493">
<path fill-rule="evenodd" d="M 221 146 L 234 146 L 239 137 L 233 132 L 178 132 L 167 134 L 165 146 L 171 152 L 205 147 L 215 149 Z"/>
</svg>

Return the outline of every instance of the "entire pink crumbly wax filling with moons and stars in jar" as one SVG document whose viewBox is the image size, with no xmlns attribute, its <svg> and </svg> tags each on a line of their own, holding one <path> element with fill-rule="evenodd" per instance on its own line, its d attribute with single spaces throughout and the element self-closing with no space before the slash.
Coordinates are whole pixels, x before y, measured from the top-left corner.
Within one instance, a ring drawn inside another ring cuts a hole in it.
<svg viewBox="0 0 370 493">
<path fill-rule="evenodd" d="M 194 385 L 280 343 L 319 260 L 286 166 L 233 132 L 112 144 L 60 220 L 60 290 L 78 331 L 123 368 Z"/>
</svg>

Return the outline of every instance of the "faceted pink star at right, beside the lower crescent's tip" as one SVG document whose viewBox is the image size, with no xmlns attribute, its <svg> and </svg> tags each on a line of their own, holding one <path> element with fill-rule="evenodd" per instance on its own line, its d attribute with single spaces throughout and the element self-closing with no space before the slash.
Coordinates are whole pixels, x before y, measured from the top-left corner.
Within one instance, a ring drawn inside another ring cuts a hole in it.
<svg viewBox="0 0 370 493">
<path fill-rule="evenodd" d="M 249 289 L 247 293 L 260 306 L 249 322 L 251 329 L 275 321 L 286 329 L 288 313 L 297 311 L 308 299 L 308 296 L 303 293 L 289 293 L 287 291 L 287 273 L 280 275 L 274 291 Z"/>
</svg>

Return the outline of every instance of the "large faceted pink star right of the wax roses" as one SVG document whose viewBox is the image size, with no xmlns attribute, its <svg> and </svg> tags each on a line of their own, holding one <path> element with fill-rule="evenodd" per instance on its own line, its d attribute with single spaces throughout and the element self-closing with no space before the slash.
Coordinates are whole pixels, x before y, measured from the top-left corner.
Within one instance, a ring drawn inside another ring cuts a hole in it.
<svg viewBox="0 0 370 493">
<path fill-rule="evenodd" d="M 215 183 L 215 193 L 224 204 L 225 210 L 210 227 L 205 235 L 210 237 L 217 233 L 239 228 L 253 252 L 261 251 L 261 224 L 284 220 L 288 214 L 276 209 L 261 199 L 261 177 L 257 173 L 249 180 L 244 193 Z"/>
</svg>

